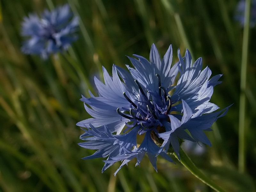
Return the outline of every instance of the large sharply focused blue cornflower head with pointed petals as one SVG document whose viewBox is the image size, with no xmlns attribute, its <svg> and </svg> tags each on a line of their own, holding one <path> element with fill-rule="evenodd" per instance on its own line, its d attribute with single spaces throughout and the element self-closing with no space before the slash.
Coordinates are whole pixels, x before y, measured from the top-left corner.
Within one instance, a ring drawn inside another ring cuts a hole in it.
<svg viewBox="0 0 256 192">
<path fill-rule="evenodd" d="M 122 161 L 119 169 L 133 158 L 138 165 L 145 154 L 157 171 L 156 157 L 173 162 L 167 152 L 179 157 L 183 139 L 211 145 L 204 131 L 228 110 L 214 112 L 219 107 L 209 102 L 221 75 L 210 79 L 211 70 L 202 70 L 201 58 L 193 63 L 188 50 L 185 57 L 178 50 L 173 66 L 171 45 L 162 60 L 154 44 L 149 61 L 134 56 L 138 59 L 128 57 L 134 66 L 127 65 L 130 73 L 113 65 L 111 77 L 103 68 L 105 84 L 94 78 L 99 97 L 90 93 L 81 99 L 93 118 L 77 123 L 86 128 L 80 136 L 86 141 L 79 145 L 98 149 L 84 159 L 108 157 L 102 172 L 117 161 Z"/>
</svg>

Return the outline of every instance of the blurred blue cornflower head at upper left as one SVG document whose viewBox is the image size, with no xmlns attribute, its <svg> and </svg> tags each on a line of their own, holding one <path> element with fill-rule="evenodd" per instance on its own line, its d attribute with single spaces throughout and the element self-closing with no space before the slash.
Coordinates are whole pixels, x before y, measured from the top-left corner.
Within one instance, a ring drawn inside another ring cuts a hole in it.
<svg viewBox="0 0 256 192">
<path fill-rule="evenodd" d="M 41 17 L 29 14 L 22 22 L 21 35 L 28 37 L 21 51 L 48 58 L 50 53 L 66 50 L 77 39 L 78 17 L 73 17 L 68 4 L 51 12 L 44 10 Z"/>
</svg>

